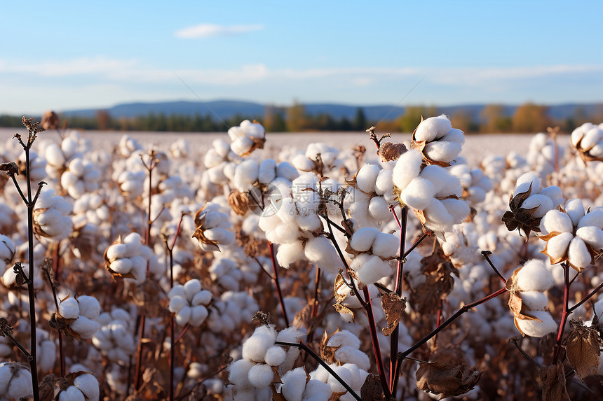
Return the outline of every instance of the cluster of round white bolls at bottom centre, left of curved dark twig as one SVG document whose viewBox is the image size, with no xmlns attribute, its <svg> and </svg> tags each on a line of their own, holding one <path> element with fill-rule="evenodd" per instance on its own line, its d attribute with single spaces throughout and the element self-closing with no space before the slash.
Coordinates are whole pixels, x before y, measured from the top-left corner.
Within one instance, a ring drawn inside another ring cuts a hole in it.
<svg viewBox="0 0 603 401">
<path fill-rule="evenodd" d="M 295 328 L 280 332 L 269 325 L 256 328 L 243 342 L 242 359 L 229 366 L 229 381 L 234 386 L 233 400 L 269 400 L 271 385 L 278 382 L 278 375 L 292 369 L 299 356 L 296 347 L 275 343 L 297 343 L 301 337 L 302 332 Z"/>
</svg>

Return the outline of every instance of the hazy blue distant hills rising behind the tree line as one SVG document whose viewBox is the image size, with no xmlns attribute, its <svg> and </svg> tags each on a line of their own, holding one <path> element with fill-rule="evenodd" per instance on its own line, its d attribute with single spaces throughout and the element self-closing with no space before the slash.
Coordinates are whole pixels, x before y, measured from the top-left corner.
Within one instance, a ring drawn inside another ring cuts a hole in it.
<svg viewBox="0 0 603 401">
<path fill-rule="evenodd" d="M 253 103 L 250 101 L 233 100 L 215 100 L 215 101 L 161 101 L 161 102 L 137 102 L 118 104 L 111 108 L 102 109 L 107 111 L 112 118 L 132 118 L 139 115 L 148 115 L 149 113 L 164 115 L 210 115 L 212 118 L 231 118 L 233 115 L 240 115 L 247 118 L 263 117 L 266 111 L 264 104 Z M 485 104 L 469 104 L 459 106 L 437 107 L 438 113 L 454 115 L 463 111 L 468 115 L 477 116 L 480 114 Z M 273 106 L 279 108 L 279 106 Z M 284 107 L 281 107 L 284 109 Z M 365 117 L 370 121 L 395 120 L 404 113 L 404 108 L 400 106 L 354 106 L 346 104 L 304 104 L 304 108 L 309 115 L 327 114 L 332 118 L 353 119 L 362 108 Z M 517 106 L 505 106 L 505 113 L 513 115 Z M 574 117 L 577 114 L 592 115 L 601 111 L 602 104 L 560 104 L 549 106 L 549 115 L 555 120 Z M 65 117 L 94 117 L 100 109 L 83 109 L 63 111 Z"/>
</svg>

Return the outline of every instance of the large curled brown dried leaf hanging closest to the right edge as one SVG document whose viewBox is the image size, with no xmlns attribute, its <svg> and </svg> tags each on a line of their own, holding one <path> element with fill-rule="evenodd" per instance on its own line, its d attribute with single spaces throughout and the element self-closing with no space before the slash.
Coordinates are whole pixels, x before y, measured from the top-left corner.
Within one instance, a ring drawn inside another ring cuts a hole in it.
<svg viewBox="0 0 603 401">
<path fill-rule="evenodd" d="M 571 327 L 567 338 L 566 355 L 569 365 L 584 381 L 584 378 L 596 372 L 599 366 L 599 346 L 602 345 L 597 329 L 586 327 L 582 321 L 571 320 Z"/>
</svg>

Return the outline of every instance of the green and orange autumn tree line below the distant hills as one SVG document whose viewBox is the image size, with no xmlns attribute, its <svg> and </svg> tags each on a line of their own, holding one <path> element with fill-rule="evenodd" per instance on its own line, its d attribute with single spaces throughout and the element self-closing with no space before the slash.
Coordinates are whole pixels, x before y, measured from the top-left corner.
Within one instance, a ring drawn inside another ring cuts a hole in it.
<svg viewBox="0 0 603 401">
<path fill-rule="evenodd" d="M 111 116 L 107 111 L 97 111 L 90 117 L 61 116 L 62 126 L 76 129 L 99 129 L 110 131 L 159 131 L 159 132 L 222 132 L 239 125 L 245 119 L 261 122 L 268 132 L 308 132 L 308 131 L 364 131 L 377 125 L 382 132 L 412 132 L 421 121 L 421 116 L 439 115 L 435 106 L 407 106 L 398 118 L 385 121 L 371 121 L 362 108 L 358 108 L 353 118 L 334 118 L 327 113 L 306 113 L 304 105 L 290 107 L 266 106 L 264 115 L 233 115 L 231 118 L 214 118 L 212 115 L 182 115 L 149 113 L 132 118 Z M 547 127 L 559 126 L 564 132 L 571 132 L 583 122 L 602 122 L 603 105 L 595 113 L 586 113 L 580 108 L 569 118 L 553 119 L 548 106 L 526 103 L 517 106 L 510 113 L 507 106 L 489 104 L 479 113 L 459 110 L 449 115 L 452 126 L 472 133 L 529 133 L 543 132 Z M 21 127 L 21 117 L 0 115 L 0 127 Z"/>
</svg>

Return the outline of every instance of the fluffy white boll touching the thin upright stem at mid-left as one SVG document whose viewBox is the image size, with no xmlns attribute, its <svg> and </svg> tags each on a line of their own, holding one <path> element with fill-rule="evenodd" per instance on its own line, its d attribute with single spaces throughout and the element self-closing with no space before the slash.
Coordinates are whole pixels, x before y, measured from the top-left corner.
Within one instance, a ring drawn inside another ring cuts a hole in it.
<svg viewBox="0 0 603 401">
<path fill-rule="evenodd" d="M 147 278 L 147 262 L 152 253 L 151 248 L 142 244 L 140 234 L 130 232 L 123 238 L 118 237 L 104 252 L 105 267 L 114 277 L 140 284 Z"/>
</svg>

